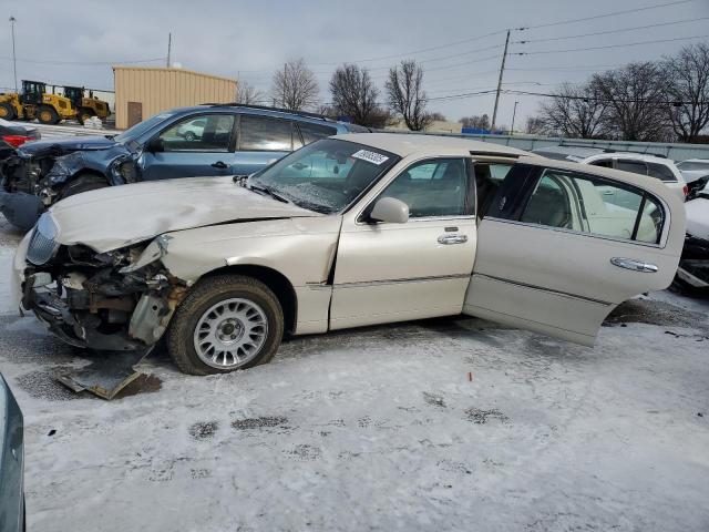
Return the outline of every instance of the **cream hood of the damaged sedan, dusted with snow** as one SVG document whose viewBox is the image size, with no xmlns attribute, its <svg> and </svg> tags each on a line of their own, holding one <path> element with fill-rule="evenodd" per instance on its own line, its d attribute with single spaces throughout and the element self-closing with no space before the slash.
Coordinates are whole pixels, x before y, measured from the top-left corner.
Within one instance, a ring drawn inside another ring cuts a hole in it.
<svg viewBox="0 0 709 532">
<path fill-rule="evenodd" d="M 99 253 L 147 241 L 163 233 L 207 225 L 273 218 L 322 216 L 227 177 L 183 177 L 111 186 L 56 203 L 50 215 L 60 244 L 84 244 Z"/>
</svg>

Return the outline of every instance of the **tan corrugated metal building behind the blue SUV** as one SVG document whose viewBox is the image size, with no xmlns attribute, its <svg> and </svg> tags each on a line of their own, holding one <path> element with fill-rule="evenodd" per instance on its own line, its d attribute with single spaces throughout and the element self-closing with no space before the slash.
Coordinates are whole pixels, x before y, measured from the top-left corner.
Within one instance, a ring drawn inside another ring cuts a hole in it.
<svg viewBox="0 0 709 532">
<path fill-rule="evenodd" d="M 115 125 L 126 129 L 161 111 L 236 99 L 236 80 L 183 69 L 113 66 Z"/>
</svg>

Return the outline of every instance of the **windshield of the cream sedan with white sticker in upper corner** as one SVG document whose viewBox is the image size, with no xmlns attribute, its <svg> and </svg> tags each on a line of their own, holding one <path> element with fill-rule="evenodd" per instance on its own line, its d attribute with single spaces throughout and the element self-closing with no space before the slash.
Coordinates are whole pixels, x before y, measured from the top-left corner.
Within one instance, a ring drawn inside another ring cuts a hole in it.
<svg viewBox="0 0 709 532">
<path fill-rule="evenodd" d="M 331 214 L 343 211 L 399 158 L 363 144 L 325 139 L 264 168 L 249 184 L 304 208 Z"/>
</svg>

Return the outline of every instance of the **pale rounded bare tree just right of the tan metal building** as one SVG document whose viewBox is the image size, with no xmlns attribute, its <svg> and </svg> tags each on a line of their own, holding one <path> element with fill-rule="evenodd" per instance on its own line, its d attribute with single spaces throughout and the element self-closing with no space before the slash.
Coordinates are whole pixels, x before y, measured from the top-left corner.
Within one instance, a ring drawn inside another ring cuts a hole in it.
<svg viewBox="0 0 709 532">
<path fill-rule="evenodd" d="M 271 98 L 276 105 L 301 111 L 318 104 L 318 82 L 305 60 L 289 61 L 274 74 Z"/>
</svg>

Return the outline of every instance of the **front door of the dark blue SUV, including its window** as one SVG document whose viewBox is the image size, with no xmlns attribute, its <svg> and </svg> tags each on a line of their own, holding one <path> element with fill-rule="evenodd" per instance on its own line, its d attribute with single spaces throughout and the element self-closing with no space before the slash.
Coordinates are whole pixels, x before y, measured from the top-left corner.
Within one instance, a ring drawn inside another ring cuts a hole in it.
<svg viewBox="0 0 709 532">
<path fill-rule="evenodd" d="M 142 180 L 230 175 L 235 114 L 203 114 L 182 120 L 158 136 L 163 151 L 145 152 Z"/>
</svg>

